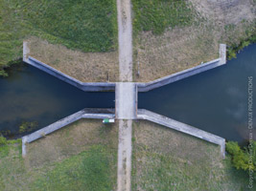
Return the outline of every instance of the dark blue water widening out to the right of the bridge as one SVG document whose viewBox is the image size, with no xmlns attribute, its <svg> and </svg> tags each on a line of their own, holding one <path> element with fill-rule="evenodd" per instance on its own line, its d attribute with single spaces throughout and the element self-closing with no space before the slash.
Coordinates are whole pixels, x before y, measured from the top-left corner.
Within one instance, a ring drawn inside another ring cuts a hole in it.
<svg viewBox="0 0 256 191">
<path fill-rule="evenodd" d="M 247 131 L 247 84 L 253 76 L 256 108 L 256 45 L 227 65 L 139 94 L 139 108 L 171 117 L 228 140 L 244 142 Z M 256 117 L 254 112 L 254 138 Z"/>
</svg>

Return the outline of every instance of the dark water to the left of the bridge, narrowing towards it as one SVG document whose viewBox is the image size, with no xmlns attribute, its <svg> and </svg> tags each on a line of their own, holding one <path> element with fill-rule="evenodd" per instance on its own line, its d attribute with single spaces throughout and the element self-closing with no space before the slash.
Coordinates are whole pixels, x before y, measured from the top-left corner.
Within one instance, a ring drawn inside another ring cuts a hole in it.
<svg viewBox="0 0 256 191">
<path fill-rule="evenodd" d="M 113 108 L 114 98 L 82 92 L 23 63 L 0 78 L 0 131 L 10 130 L 15 138 L 23 121 L 37 121 L 39 129 L 83 108 Z"/>
</svg>

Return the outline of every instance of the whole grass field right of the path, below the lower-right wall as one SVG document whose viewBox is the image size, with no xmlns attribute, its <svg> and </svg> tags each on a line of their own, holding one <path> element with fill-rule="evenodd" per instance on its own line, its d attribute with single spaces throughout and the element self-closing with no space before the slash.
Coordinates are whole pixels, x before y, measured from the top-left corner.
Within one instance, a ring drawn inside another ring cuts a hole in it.
<svg viewBox="0 0 256 191">
<path fill-rule="evenodd" d="M 219 146 L 148 121 L 133 131 L 132 190 L 246 190 L 247 174 Z"/>
</svg>

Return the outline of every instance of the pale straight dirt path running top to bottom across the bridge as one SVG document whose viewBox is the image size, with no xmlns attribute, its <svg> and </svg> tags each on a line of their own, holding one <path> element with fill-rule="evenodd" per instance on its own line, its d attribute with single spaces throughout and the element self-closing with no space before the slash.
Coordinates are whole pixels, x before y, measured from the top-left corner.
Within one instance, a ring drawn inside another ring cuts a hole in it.
<svg viewBox="0 0 256 191">
<path fill-rule="evenodd" d="M 116 88 L 116 95 L 122 99 L 118 104 L 121 112 L 119 118 L 119 143 L 118 143 L 118 173 L 117 173 L 117 190 L 130 191 L 130 172 L 131 172 L 131 137 L 132 137 L 132 119 L 131 115 L 125 115 L 122 111 L 127 108 L 125 104 L 128 92 L 132 90 L 122 82 L 132 81 L 132 27 L 131 27 L 131 8 L 130 0 L 117 0 L 118 12 L 118 43 L 119 43 L 119 80 L 120 88 Z M 123 86 L 124 85 L 124 86 Z M 122 98 L 122 97 L 125 97 Z M 124 99 L 124 100 L 123 100 Z M 132 99 L 130 99 L 132 100 Z M 122 108 L 125 107 L 125 108 Z M 128 107 L 129 108 L 129 107 Z M 132 108 L 131 108 L 131 111 Z M 116 111 L 118 112 L 118 111 Z M 124 118 L 127 118 L 124 120 Z"/>
</svg>

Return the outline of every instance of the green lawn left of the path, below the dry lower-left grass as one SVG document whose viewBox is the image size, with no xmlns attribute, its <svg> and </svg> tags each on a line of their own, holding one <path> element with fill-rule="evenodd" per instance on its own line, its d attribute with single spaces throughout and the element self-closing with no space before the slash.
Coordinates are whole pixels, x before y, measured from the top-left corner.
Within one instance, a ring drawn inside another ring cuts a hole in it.
<svg viewBox="0 0 256 191">
<path fill-rule="evenodd" d="M 105 146 L 94 145 L 79 155 L 38 168 L 26 168 L 20 151 L 20 143 L 9 143 L 0 150 L 1 191 L 110 191 L 115 186 L 109 175 L 113 174 L 116 151 Z"/>
</svg>

